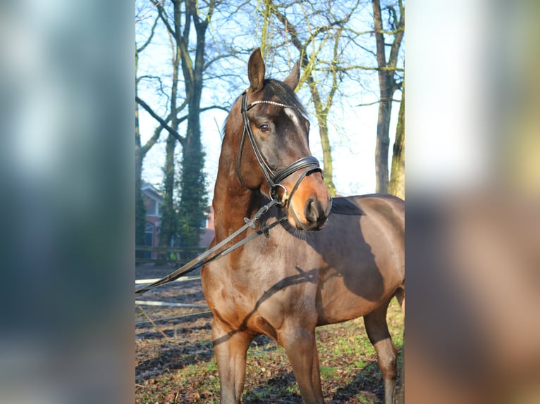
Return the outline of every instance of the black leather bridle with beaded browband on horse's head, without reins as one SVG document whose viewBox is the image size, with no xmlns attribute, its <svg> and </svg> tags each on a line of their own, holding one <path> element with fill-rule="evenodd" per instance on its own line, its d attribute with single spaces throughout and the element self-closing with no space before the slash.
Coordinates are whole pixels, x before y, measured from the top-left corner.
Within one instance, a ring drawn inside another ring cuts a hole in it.
<svg viewBox="0 0 540 404">
<path fill-rule="evenodd" d="M 237 172 L 238 172 L 238 179 L 240 179 L 240 182 L 245 186 L 245 182 L 242 180 L 242 176 L 240 175 L 240 160 L 242 159 L 242 150 L 244 148 L 244 141 L 245 141 L 245 134 L 247 133 L 247 138 L 250 139 L 250 144 L 252 146 L 253 152 L 255 154 L 255 158 L 257 158 L 257 163 L 259 163 L 259 167 L 262 170 L 262 173 L 264 174 L 264 177 L 266 178 L 266 182 L 268 182 L 270 186 L 270 198 L 272 200 L 278 199 L 277 189 L 281 188 L 283 189 L 283 197 L 281 198 L 281 202 L 279 204 L 283 206 L 290 198 L 293 197 L 293 194 L 295 193 L 296 189 L 300 185 L 300 182 L 302 182 L 302 179 L 306 175 L 308 175 L 311 172 L 322 172 L 321 167 L 319 165 L 319 160 L 315 158 L 314 156 L 307 156 L 302 157 L 296 160 L 294 163 L 291 163 L 286 168 L 283 168 L 283 170 L 277 172 L 277 174 L 272 170 L 268 163 L 266 163 L 266 160 L 264 159 L 264 156 L 262 156 L 262 153 L 259 149 L 259 146 L 257 146 L 257 141 L 255 141 L 255 137 L 253 134 L 253 131 L 251 130 L 250 125 L 250 118 L 247 118 L 247 111 L 250 111 L 251 108 L 256 106 L 259 103 L 267 103 L 274 106 L 281 106 L 283 108 L 295 108 L 295 106 L 288 106 L 283 103 L 277 103 L 274 101 L 269 100 L 260 100 L 260 101 L 253 101 L 250 103 L 250 105 L 247 105 L 247 91 L 244 91 L 242 94 L 242 118 L 244 120 L 244 131 L 242 133 L 242 139 L 240 140 L 240 149 L 238 150 L 238 163 L 237 163 Z M 297 172 L 299 170 L 304 170 L 300 177 L 298 178 L 295 186 L 293 187 L 293 190 L 290 192 L 290 195 L 287 195 L 287 189 L 282 184 L 280 184 L 283 179 L 286 179 L 289 175 L 293 174 L 293 172 Z"/>
</svg>

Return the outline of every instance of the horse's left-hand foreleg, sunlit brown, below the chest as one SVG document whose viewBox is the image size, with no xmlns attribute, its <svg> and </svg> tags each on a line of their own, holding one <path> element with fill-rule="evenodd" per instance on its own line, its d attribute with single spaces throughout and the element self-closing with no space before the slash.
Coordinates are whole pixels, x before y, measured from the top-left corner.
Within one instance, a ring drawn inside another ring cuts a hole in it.
<svg viewBox="0 0 540 404">
<path fill-rule="evenodd" d="M 253 336 L 229 330 L 214 318 L 212 340 L 218 363 L 219 384 L 223 404 L 240 403 L 244 391 L 245 360 Z"/>
</svg>

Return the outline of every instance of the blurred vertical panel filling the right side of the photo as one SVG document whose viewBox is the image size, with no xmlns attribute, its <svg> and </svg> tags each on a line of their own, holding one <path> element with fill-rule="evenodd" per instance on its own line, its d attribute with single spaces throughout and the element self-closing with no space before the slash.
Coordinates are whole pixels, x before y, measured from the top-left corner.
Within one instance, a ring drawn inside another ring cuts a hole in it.
<svg viewBox="0 0 540 404">
<path fill-rule="evenodd" d="M 540 402 L 539 11 L 407 4 L 409 403 Z"/>
</svg>

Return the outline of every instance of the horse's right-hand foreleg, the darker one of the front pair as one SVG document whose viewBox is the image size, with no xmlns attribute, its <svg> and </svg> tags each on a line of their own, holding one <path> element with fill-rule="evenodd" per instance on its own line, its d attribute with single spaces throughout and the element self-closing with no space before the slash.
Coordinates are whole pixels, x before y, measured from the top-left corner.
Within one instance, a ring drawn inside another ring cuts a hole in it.
<svg viewBox="0 0 540 404">
<path fill-rule="evenodd" d="M 314 329 L 288 329 L 278 339 L 285 348 L 305 404 L 324 403 Z"/>
</svg>

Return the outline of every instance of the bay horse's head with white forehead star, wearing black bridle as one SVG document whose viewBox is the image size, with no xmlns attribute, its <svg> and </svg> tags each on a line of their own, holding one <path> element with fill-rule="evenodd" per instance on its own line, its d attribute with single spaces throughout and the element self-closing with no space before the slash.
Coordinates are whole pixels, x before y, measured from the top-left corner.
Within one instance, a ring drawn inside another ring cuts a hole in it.
<svg viewBox="0 0 540 404">
<path fill-rule="evenodd" d="M 250 87 L 232 108 L 236 118 L 226 124 L 226 132 L 233 132 L 238 143 L 238 180 L 247 189 L 277 199 L 291 226 L 319 230 L 330 213 L 331 197 L 309 150 L 309 120 L 294 92 L 300 65 L 295 63 L 283 82 L 265 79 L 264 61 L 256 49 L 247 72 Z"/>
</svg>

